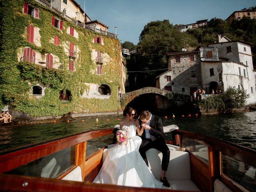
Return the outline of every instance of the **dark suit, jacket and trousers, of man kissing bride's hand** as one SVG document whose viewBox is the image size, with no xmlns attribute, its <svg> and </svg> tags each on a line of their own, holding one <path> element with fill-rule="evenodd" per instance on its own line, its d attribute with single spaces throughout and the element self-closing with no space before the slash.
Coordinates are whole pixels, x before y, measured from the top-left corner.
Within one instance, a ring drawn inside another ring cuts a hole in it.
<svg viewBox="0 0 256 192">
<path fill-rule="evenodd" d="M 163 154 L 162 158 L 162 170 L 166 171 L 168 168 L 170 160 L 170 150 L 166 145 L 166 142 L 163 138 L 164 130 L 161 118 L 151 114 L 151 120 L 149 126 L 150 139 L 145 138 L 145 130 L 142 134 L 142 143 L 140 144 L 140 154 L 148 166 L 148 159 L 146 156 L 146 151 L 150 148 L 156 148 Z M 141 122 L 140 122 L 141 124 Z"/>
</svg>

